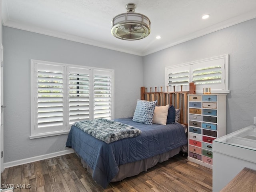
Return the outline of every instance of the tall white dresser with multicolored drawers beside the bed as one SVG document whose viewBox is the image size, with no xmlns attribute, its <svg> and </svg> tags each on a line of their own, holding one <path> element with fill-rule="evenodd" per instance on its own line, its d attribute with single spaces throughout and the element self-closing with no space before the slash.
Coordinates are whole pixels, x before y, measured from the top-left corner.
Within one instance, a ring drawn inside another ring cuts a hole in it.
<svg viewBox="0 0 256 192">
<path fill-rule="evenodd" d="M 188 160 L 212 168 L 212 141 L 226 135 L 226 94 L 188 95 Z"/>
</svg>

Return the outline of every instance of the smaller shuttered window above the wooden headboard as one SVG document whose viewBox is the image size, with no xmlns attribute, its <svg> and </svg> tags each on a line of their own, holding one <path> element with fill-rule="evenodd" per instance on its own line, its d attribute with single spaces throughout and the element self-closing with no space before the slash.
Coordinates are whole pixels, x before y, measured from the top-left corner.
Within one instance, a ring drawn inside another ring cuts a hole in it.
<svg viewBox="0 0 256 192">
<path fill-rule="evenodd" d="M 202 94 L 203 88 L 210 87 L 212 93 L 229 93 L 228 54 L 189 62 L 165 68 L 166 86 L 169 91 L 189 91 L 189 82 L 196 84 L 196 93 Z"/>
</svg>

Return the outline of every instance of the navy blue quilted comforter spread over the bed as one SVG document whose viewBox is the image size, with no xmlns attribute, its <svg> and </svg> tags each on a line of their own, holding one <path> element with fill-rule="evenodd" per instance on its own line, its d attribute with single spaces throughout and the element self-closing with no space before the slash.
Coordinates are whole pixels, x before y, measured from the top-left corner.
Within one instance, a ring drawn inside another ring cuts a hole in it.
<svg viewBox="0 0 256 192">
<path fill-rule="evenodd" d="M 132 118 L 116 121 L 142 132 L 137 137 L 107 144 L 72 126 L 66 142 L 66 146 L 72 147 L 92 168 L 92 178 L 104 188 L 118 173 L 119 165 L 150 158 L 188 143 L 184 128 L 179 123 L 146 125 L 134 122 Z"/>
</svg>

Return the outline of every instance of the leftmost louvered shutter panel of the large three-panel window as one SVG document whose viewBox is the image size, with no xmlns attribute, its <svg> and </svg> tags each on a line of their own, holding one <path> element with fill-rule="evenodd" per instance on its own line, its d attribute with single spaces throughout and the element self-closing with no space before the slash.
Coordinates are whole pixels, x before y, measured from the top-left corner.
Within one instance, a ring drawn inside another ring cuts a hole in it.
<svg viewBox="0 0 256 192">
<path fill-rule="evenodd" d="M 35 64 L 36 68 L 36 134 L 45 130 L 64 129 L 64 68 L 48 64 Z"/>
</svg>

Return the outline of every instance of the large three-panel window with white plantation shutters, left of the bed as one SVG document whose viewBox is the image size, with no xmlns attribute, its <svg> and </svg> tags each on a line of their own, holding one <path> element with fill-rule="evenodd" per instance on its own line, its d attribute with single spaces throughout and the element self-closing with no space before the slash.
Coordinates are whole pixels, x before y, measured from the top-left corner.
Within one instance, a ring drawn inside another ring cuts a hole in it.
<svg viewBox="0 0 256 192">
<path fill-rule="evenodd" d="M 76 121 L 114 117 L 114 70 L 31 60 L 31 136 L 66 134 Z"/>
</svg>

